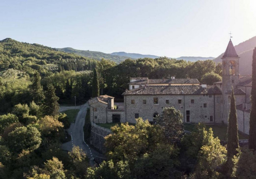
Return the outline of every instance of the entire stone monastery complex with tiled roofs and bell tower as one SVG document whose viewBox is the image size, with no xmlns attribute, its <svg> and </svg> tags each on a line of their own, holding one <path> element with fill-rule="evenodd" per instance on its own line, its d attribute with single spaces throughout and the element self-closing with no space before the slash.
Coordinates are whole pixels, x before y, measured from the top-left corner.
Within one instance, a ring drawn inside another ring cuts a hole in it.
<svg viewBox="0 0 256 179">
<path fill-rule="evenodd" d="M 129 90 L 122 94 L 124 103 L 114 104 L 114 98 L 108 95 L 89 100 L 91 120 L 134 123 L 142 117 L 154 122 L 163 108 L 174 106 L 183 114 L 184 122 L 227 124 L 233 87 L 239 131 L 249 134 L 252 76 L 239 74 L 239 56 L 231 40 L 222 57 L 222 70 L 222 81 L 211 86 L 200 85 L 197 79 L 131 78 Z"/>
</svg>

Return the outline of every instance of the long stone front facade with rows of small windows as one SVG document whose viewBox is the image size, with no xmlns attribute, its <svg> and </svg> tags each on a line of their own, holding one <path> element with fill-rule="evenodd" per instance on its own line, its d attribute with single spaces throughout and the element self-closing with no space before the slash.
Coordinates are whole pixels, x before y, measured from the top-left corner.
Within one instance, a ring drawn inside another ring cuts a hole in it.
<svg viewBox="0 0 256 179">
<path fill-rule="evenodd" d="M 217 97 L 221 95 L 126 95 L 124 97 L 124 105 L 126 106 L 126 121 L 135 123 L 135 113 L 139 114 L 144 120 L 153 121 L 154 113 L 161 114 L 163 108 L 172 107 L 180 110 L 186 122 L 187 110 L 190 111 L 190 122 L 210 122 L 210 116 L 213 116 L 213 121 L 221 122 L 222 107 L 221 103 L 217 103 Z M 154 98 L 158 98 L 158 104 L 154 104 Z M 191 103 L 191 100 L 194 103 Z M 215 102 L 214 102 L 215 99 Z M 134 104 L 131 104 L 134 100 Z M 146 100 L 146 104 L 143 104 Z M 169 100 L 169 104 L 166 104 Z M 178 103 L 181 100 L 181 103 Z M 207 107 L 204 108 L 204 103 Z M 214 114 L 215 106 L 215 114 Z"/>
</svg>

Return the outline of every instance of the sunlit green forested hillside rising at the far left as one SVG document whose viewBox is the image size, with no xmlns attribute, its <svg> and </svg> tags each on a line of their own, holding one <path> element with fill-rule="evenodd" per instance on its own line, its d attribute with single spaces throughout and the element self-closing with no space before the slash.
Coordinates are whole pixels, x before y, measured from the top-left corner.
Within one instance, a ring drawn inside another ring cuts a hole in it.
<svg viewBox="0 0 256 179">
<path fill-rule="evenodd" d="M 18 42 L 11 38 L 0 41 L 0 76 L 7 69 L 23 71 L 30 76 L 35 70 L 42 76 L 59 68 L 71 70 L 74 69 L 74 59 L 77 59 L 78 70 L 92 69 L 96 65 L 96 60 L 39 44 Z"/>
</svg>

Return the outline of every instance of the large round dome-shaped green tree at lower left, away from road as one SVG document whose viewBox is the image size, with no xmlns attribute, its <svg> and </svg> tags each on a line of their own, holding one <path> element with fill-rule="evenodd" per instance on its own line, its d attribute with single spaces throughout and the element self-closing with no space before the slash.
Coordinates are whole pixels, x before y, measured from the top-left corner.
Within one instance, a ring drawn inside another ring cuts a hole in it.
<svg viewBox="0 0 256 179">
<path fill-rule="evenodd" d="M 8 134 L 7 143 L 13 152 L 20 153 L 22 150 L 31 152 L 39 148 L 41 144 L 40 136 L 41 134 L 37 128 L 22 126 Z"/>
</svg>

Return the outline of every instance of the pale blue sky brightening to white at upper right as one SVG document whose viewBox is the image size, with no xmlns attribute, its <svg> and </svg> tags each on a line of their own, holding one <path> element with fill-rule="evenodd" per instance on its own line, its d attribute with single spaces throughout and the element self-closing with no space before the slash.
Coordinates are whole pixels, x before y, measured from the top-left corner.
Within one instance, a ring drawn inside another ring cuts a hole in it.
<svg viewBox="0 0 256 179">
<path fill-rule="evenodd" d="M 256 0 L 1 0 L 0 40 L 217 57 L 256 36 Z"/>
</svg>

